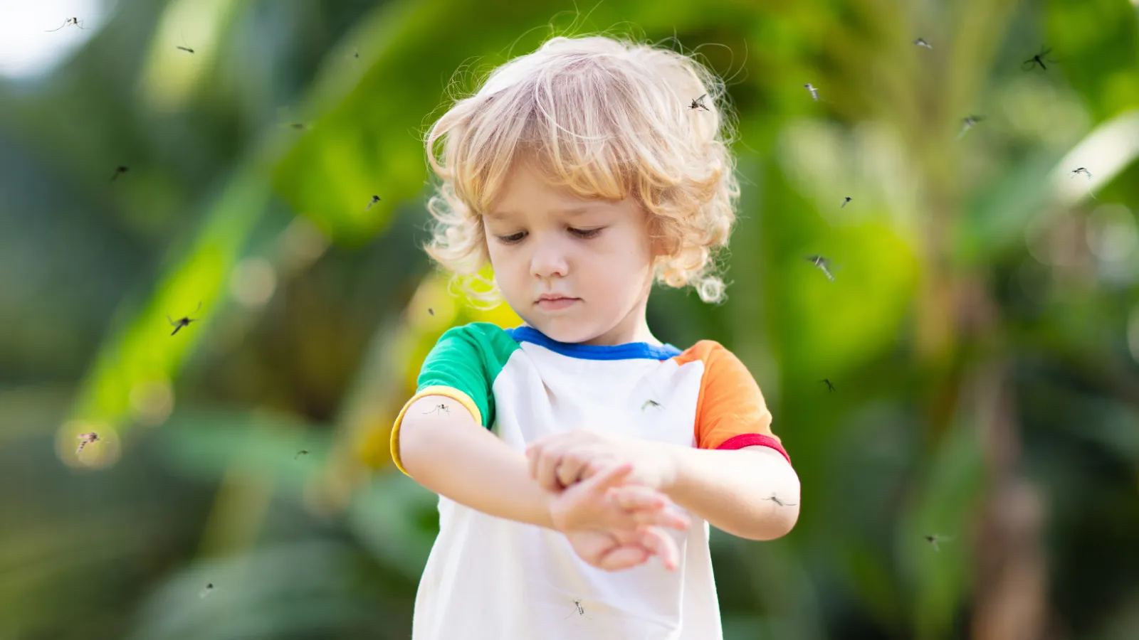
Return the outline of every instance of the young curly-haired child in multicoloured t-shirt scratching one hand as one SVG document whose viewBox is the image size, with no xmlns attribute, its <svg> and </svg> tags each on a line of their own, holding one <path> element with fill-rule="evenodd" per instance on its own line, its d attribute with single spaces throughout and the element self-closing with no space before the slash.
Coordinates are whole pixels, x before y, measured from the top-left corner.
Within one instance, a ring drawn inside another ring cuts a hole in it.
<svg viewBox="0 0 1139 640">
<path fill-rule="evenodd" d="M 396 466 L 440 494 L 415 640 L 714 640 L 708 524 L 794 526 L 747 369 L 646 322 L 654 281 L 722 297 L 738 187 L 718 91 L 673 51 L 554 38 L 429 131 L 427 251 L 458 276 L 490 263 L 525 325 L 443 334 L 396 418 Z"/>
</svg>

